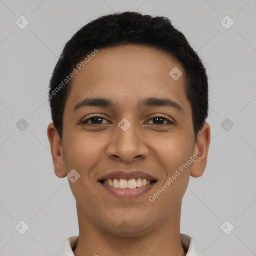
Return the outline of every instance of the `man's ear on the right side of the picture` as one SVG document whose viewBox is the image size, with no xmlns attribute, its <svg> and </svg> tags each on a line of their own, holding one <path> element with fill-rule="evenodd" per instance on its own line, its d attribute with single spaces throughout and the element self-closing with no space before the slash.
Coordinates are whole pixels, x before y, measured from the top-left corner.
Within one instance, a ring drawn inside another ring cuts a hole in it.
<svg viewBox="0 0 256 256">
<path fill-rule="evenodd" d="M 199 131 L 195 146 L 194 155 L 198 157 L 193 161 L 191 168 L 191 176 L 200 177 L 207 165 L 208 150 L 210 145 L 210 126 L 207 122 L 203 124 L 202 129 Z M 196 153 L 197 152 L 197 153 Z"/>
</svg>

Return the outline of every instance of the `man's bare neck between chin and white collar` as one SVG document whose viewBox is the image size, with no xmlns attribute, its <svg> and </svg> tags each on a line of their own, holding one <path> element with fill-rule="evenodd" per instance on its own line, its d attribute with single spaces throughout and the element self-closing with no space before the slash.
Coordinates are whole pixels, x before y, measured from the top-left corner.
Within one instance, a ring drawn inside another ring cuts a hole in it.
<svg viewBox="0 0 256 256">
<path fill-rule="evenodd" d="M 181 203 L 171 217 L 152 228 L 151 231 L 132 235 L 118 236 L 107 232 L 89 218 L 77 203 L 79 239 L 74 250 L 75 256 L 184 256 L 186 253 L 180 240 Z"/>
</svg>

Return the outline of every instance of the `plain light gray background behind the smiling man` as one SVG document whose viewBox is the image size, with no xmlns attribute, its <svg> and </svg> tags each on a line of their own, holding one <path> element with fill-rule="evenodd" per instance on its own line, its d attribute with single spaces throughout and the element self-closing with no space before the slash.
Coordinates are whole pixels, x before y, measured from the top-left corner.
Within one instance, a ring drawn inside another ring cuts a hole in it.
<svg viewBox="0 0 256 256">
<path fill-rule="evenodd" d="M 68 179 L 53 170 L 47 87 L 80 27 L 127 10 L 170 18 L 209 76 L 208 163 L 201 178 L 190 179 L 181 232 L 206 256 L 256 255 L 256 0 L 0 0 L 0 255 L 60 255 L 78 235 Z M 15 24 L 21 15 L 29 20 L 24 29 Z M 229 29 L 220 22 L 226 15 L 234 21 Z M 226 118 L 234 124 L 228 130 Z M 21 220 L 29 226 L 24 234 L 15 229 Z M 226 220 L 234 226 L 229 234 L 220 228 Z"/>
</svg>

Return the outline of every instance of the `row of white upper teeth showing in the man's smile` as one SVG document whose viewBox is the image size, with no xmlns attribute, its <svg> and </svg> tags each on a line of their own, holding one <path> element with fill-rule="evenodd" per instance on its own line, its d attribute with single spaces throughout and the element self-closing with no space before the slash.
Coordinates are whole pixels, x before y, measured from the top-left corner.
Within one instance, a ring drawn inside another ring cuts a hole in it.
<svg viewBox="0 0 256 256">
<path fill-rule="evenodd" d="M 146 186 L 150 184 L 150 180 L 146 178 L 132 178 L 129 180 L 126 179 L 106 179 L 103 181 L 105 185 L 115 187 L 115 188 L 129 188 L 134 189 L 136 187 Z"/>
</svg>

